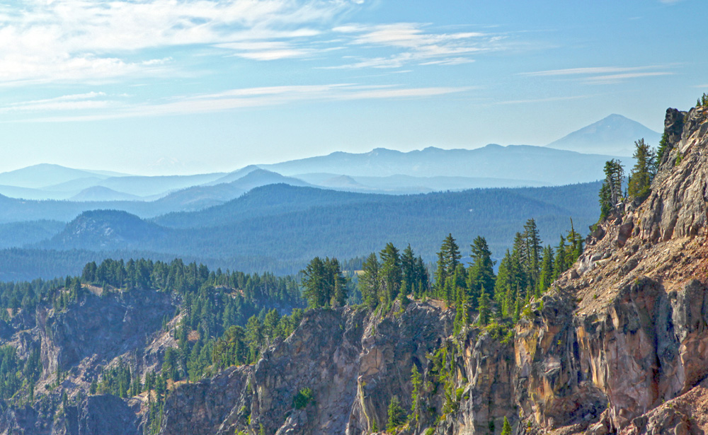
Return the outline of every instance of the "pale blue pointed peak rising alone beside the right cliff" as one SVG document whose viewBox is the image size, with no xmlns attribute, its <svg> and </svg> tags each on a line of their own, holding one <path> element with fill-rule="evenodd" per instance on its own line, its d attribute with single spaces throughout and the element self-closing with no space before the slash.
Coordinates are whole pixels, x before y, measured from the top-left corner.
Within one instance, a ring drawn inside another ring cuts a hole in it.
<svg viewBox="0 0 708 435">
<path fill-rule="evenodd" d="M 583 127 L 547 146 L 578 153 L 632 156 L 634 141 L 644 138 L 650 146 L 658 146 L 661 134 L 622 115 L 612 114 Z"/>
</svg>

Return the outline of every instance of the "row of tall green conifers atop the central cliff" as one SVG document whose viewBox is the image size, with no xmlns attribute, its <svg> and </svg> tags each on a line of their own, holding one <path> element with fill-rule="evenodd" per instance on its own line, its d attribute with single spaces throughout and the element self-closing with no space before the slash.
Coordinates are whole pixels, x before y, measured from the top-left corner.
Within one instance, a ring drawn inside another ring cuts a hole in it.
<svg viewBox="0 0 708 435">
<path fill-rule="evenodd" d="M 518 320 L 520 311 L 532 297 L 539 297 L 583 253 L 583 238 L 573 221 L 555 247 L 543 245 L 535 219 L 528 219 L 523 231 L 515 234 L 513 248 L 502 258 L 498 274 L 496 262 L 482 236 L 470 245 L 469 259 L 462 260 L 452 234 L 442 240 L 433 279 L 420 256 L 410 245 L 401 253 L 387 243 L 379 253 L 371 253 L 362 269 L 345 277 L 338 260 L 315 257 L 302 271 L 303 296 L 309 308 L 343 306 L 348 281 L 356 279 L 362 303 L 372 309 L 388 308 L 396 299 L 438 298 L 458 311 L 456 325 L 469 323 L 470 312 L 479 314 L 479 323 L 492 317 Z M 459 329 L 459 328 L 457 328 Z"/>
</svg>

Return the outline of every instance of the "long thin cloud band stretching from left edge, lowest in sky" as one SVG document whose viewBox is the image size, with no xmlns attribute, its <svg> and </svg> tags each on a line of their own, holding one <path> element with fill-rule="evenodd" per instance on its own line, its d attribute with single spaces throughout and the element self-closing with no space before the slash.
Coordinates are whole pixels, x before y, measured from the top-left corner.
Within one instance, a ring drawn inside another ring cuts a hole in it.
<svg viewBox="0 0 708 435">
<path fill-rule="evenodd" d="M 346 100 L 372 100 L 372 99 L 394 99 L 394 98 L 430 98 L 436 95 L 450 93 L 460 93 L 469 91 L 469 87 L 423 87 L 408 88 L 403 86 L 362 86 L 353 83 L 336 83 L 329 85 L 312 86 L 268 86 L 261 88 L 237 88 L 219 93 L 202 95 L 188 95 L 180 98 L 172 98 L 164 103 L 142 104 L 142 105 L 115 105 L 110 101 L 88 100 L 68 97 L 59 97 L 42 102 L 26 102 L 0 107 L 0 112 L 8 112 L 24 108 L 23 110 L 56 110 L 52 105 L 69 110 L 69 103 L 76 106 L 76 114 L 67 116 L 47 116 L 33 117 L 24 121 L 41 122 L 67 122 L 67 121 L 91 121 L 105 120 L 126 117 L 162 116 L 162 115 L 185 115 L 193 113 L 222 112 L 226 110 L 236 110 L 242 108 L 253 108 L 263 106 L 285 105 L 289 103 L 308 101 L 346 101 Z M 98 96 L 98 95 L 96 95 Z M 67 103 L 67 105 L 62 105 Z M 81 107 L 78 103 L 94 103 L 95 107 L 86 104 Z M 103 105 L 101 105 L 101 103 Z M 91 110 L 91 113 L 81 112 L 84 109 L 105 108 L 103 111 Z"/>
</svg>

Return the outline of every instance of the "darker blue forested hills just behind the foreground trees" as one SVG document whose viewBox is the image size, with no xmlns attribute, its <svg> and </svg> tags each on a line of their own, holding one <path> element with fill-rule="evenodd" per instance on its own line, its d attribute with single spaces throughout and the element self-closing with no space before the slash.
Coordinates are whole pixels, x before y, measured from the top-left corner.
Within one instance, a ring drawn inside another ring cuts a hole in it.
<svg viewBox="0 0 708 435">
<path fill-rule="evenodd" d="M 24 249 L 0 250 L 0 280 L 79 274 L 88 261 L 175 257 L 213 269 L 297 273 L 315 256 L 362 257 L 392 242 L 435 261 L 453 233 L 463 251 L 486 236 L 496 257 L 535 218 L 542 240 L 556 244 L 571 221 L 586 230 L 598 216 L 599 182 L 561 187 L 373 195 L 285 184 L 257 187 L 226 204 L 140 219 L 120 210 L 85 211 L 68 224 L 0 225 L 0 243 L 23 234 Z"/>
</svg>

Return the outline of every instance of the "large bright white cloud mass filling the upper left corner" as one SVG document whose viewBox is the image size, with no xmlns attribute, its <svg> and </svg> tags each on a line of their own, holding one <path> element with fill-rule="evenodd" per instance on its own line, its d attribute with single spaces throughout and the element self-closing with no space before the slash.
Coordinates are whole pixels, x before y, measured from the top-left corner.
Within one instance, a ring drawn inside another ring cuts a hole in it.
<svg viewBox="0 0 708 435">
<path fill-rule="evenodd" d="M 176 65 L 152 57 L 176 46 L 270 44 L 234 50 L 249 59 L 301 57 L 279 39 L 318 35 L 312 28 L 355 6 L 349 0 L 20 0 L 0 5 L 0 83 L 110 81 L 165 74 Z M 275 47 L 280 45 L 280 47 Z"/>
</svg>

